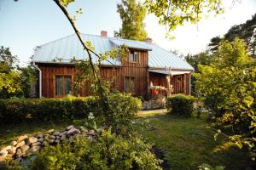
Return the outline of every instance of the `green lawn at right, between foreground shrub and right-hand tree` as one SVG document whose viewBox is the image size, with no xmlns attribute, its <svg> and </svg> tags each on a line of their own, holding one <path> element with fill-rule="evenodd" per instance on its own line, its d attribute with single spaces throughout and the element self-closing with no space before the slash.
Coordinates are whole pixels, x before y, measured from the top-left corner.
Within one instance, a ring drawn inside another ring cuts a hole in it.
<svg viewBox="0 0 256 170">
<path fill-rule="evenodd" d="M 246 169 L 252 165 L 245 150 L 231 147 L 216 151 L 225 140 L 215 141 L 211 129 L 208 128 L 210 124 L 203 118 L 152 114 L 148 117 L 146 114 L 143 119 L 149 120 L 150 127 L 140 129 L 139 133 L 164 150 L 165 160 L 171 169 L 198 169 L 202 163 L 214 167 L 223 165 L 225 169 L 232 170 Z"/>
</svg>

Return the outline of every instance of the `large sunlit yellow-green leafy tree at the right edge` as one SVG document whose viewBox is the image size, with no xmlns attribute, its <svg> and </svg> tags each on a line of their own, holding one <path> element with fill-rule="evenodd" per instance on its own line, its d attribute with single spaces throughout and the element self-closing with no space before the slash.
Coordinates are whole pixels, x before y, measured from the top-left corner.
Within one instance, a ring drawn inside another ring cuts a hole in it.
<svg viewBox="0 0 256 170">
<path fill-rule="evenodd" d="M 221 42 L 211 65 L 199 65 L 195 86 L 206 98 L 220 126 L 230 126 L 230 140 L 239 147 L 256 144 L 256 64 L 245 43 Z M 255 152 L 252 152 L 255 156 Z"/>
</svg>

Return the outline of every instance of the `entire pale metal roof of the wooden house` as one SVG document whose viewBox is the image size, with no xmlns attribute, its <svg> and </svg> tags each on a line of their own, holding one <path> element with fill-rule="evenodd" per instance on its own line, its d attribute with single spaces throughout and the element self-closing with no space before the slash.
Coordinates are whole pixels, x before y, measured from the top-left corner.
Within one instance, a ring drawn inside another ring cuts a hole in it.
<svg viewBox="0 0 256 170">
<path fill-rule="evenodd" d="M 110 51 L 112 48 L 125 44 L 129 48 L 138 48 L 148 50 L 148 67 L 149 68 L 166 68 L 189 70 L 194 68 L 185 60 L 181 59 L 175 54 L 160 48 L 154 43 L 139 42 L 134 40 L 125 40 L 113 37 L 101 37 L 95 35 L 82 34 L 84 42 L 90 41 L 96 54 L 103 54 Z M 33 61 L 36 63 L 69 63 L 70 59 L 84 59 L 88 54 L 83 50 L 79 38 L 73 34 L 71 36 L 62 37 L 53 42 L 45 43 L 36 48 L 33 56 Z M 96 55 L 92 55 L 94 62 L 96 62 Z M 56 61 L 55 59 L 61 59 Z M 114 65 L 121 65 L 119 59 L 108 59 Z M 103 65 L 110 65 L 108 61 L 103 61 Z"/>
</svg>

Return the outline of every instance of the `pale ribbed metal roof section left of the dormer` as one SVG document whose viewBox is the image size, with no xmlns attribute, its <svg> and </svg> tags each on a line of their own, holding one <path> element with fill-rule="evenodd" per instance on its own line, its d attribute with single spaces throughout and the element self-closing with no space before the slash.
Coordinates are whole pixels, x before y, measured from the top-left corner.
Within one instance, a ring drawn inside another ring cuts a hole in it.
<svg viewBox="0 0 256 170">
<path fill-rule="evenodd" d="M 94 45 L 96 54 L 103 54 L 113 48 L 112 43 L 107 37 L 99 37 L 83 34 L 84 42 L 91 42 Z M 83 50 L 79 38 L 73 34 L 68 37 L 55 40 L 39 46 L 33 56 L 33 61 L 38 63 L 54 62 L 55 59 L 61 59 L 61 62 L 69 62 L 70 59 L 88 59 L 88 54 Z M 96 62 L 96 55 L 92 54 L 93 61 Z M 119 59 L 108 59 L 115 65 L 121 65 Z M 102 65 L 110 65 L 104 60 Z"/>
</svg>

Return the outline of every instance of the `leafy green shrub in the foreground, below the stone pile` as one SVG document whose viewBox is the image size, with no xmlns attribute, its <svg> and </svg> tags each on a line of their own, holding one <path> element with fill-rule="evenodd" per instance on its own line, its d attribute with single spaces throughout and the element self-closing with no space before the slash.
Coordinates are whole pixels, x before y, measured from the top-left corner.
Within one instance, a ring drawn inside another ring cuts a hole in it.
<svg viewBox="0 0 256 170">
<path fill-rule="evenodd" d="M 160 160 L 142 139 L 124 139 L 103 131 L 96 141 L 79 138 L 48 146 L 32 161 L 32 169 L 160 169 Z"/>
</svg>

